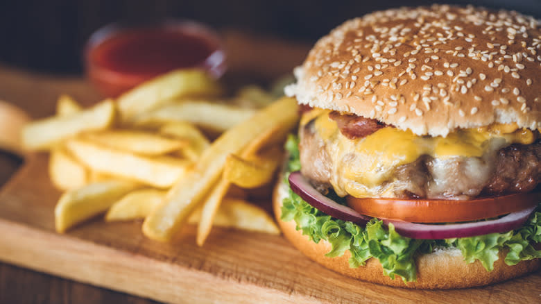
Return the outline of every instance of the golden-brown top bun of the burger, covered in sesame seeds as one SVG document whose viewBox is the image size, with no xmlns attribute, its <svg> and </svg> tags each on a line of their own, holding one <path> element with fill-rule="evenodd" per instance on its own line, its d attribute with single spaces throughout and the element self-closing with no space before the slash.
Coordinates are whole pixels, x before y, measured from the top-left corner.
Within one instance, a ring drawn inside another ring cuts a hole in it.
<svg viewBox="0 0 541 304">
<path fill-rule="evenodd" d="M 286 87 L 300 103 L 417 135 L 541 127 L 540 22 L 517 12 L 430 6 L 373 12 L 321 38 Z"/>
</svg>

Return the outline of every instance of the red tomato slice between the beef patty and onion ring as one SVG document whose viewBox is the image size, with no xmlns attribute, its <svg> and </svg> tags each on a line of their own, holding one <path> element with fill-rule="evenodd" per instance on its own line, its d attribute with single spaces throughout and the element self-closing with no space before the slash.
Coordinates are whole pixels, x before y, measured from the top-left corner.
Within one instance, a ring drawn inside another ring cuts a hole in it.
<svg viewBox="0 0 541 304">
<path fill-rule="evenodd" d="M 347 196 L 347 205 L 360 214 L 414 223 L 454 223 L 490 219 L 537 205 L 541 192 L 491 196 L 470 201 L 444 199 L 359 199 Z"/>
</svg>

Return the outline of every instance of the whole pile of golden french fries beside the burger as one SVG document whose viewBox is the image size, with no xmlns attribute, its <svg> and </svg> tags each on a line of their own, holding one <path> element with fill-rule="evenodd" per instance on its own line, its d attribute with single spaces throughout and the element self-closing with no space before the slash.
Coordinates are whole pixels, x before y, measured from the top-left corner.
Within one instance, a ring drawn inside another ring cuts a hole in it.
<svg viewBox="0 0 541 304">
<path fill-rule="evenodd" d="M 245 189 L 272 182 L 296 102 L 271 103 L 246 87 L 237 94 L 254 100 L 246 107 L 220 102 L 221 92 L 203 71 L 178 70 L 91 108 L 60 96 L 55 116 L 22 131 L 26 149 L 50 152 L 49 175 L 63 191 L 56 230 L 105 213 L 106 221 L 144 219 L 143 233 L 160 241 L 186 223 L 198 224 L 199 245 L 213 225 L 280 233 Z"/>
</svg>

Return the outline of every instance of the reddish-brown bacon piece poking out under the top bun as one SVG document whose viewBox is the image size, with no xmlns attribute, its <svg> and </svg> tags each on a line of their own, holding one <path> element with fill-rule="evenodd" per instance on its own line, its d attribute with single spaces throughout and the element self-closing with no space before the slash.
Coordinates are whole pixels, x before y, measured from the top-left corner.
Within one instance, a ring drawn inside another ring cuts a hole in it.
<svg viewBox="0 0 541 304">
<path fill-rule="evenodd" d="M 376 119 L 352 114 L 341 115 L 337 111 L 330 112 L 329 118 L 336 121 L 340 132 L 350 140 L 366 137 L 386 126 L 386 124 L 381 124 Z"/>
</svg>

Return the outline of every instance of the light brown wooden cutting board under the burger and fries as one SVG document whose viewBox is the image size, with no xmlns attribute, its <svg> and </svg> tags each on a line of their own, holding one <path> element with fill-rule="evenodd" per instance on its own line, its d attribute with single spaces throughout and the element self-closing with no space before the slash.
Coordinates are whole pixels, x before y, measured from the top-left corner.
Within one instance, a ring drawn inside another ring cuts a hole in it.
<svg viewBox="0 0 541 304">
<path fill-rule="evenodd" d="M 227 41 L 233 38 L 232 44 L 241 49 L 235 51 L 239 63 L 232 71 L 245 76 L 261 72 L 272 62 L 258 61 L 256 56 L 246 65 L 240 60 L 243 52 L 279 49 L 271 56 L 282 58 L 283 67 L 273 65 L 267 74 L 259 75 L 272 78 L 280 69 L 298 64 L 307 50 L 278 40 L 227 35 Z M 86 104 L 98 100 L 80 78 L 0 67 L 0 99 L 12 101 L 34 117 L 50 115 L 60 93 L 72 94 Z M 260 233 L 213 228 L 205 246 L 198 247 L 195 229 L 189 226 L 178 241 L 162 244 L 141 234 L 141 222 L 105 223 L 96 218 L 59 235 L 54 231 L 53 208 L 60 193 L 49 181 L 46 164 L 46 154 L 33 155 L 0 189 L 2 261 L 174 303 L 541 302 L 539 272 L 472 289 L 384 287 L 329 271 L 301 255 L 284 238 Z"/>
</svg>

